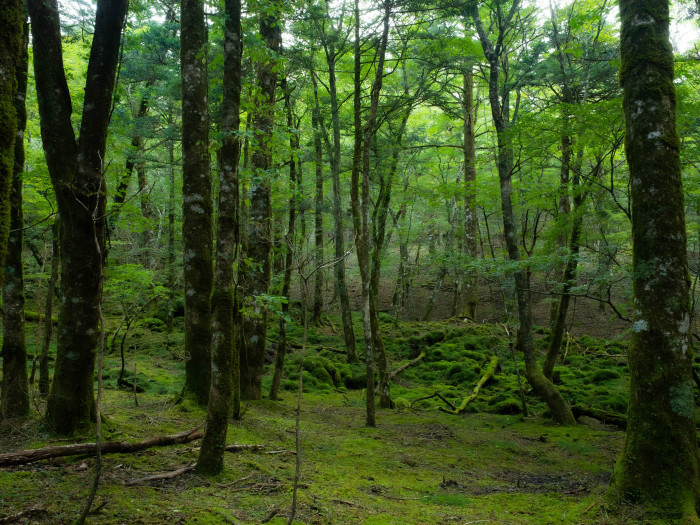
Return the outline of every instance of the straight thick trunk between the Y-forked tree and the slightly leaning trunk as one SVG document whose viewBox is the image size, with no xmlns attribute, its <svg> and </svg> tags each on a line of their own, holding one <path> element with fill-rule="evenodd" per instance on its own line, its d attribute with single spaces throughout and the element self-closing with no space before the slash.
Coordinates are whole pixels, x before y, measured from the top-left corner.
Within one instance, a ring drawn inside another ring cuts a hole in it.
<svg viewBox="0 0 700 525">
<path fill-rule="evenodd" d="M 182 0 L 182 249 L 185 391 L 206 405 L 211 378 L 212 184 L 204 4 Z"/>
</svg>

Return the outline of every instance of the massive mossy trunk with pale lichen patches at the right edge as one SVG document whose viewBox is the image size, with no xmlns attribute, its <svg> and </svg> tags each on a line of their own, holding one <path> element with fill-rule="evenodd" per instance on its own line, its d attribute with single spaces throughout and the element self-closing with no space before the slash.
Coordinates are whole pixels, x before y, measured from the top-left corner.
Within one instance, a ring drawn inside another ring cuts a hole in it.
<svg viewBox="0 0 700 525">
<path fill-rule="evenodd" d="M 697 522 L 690 298 L 667 0 L 621 0 L 620 83 L 632 197 L 635 321 L 620 501 Z"/>
</svg>

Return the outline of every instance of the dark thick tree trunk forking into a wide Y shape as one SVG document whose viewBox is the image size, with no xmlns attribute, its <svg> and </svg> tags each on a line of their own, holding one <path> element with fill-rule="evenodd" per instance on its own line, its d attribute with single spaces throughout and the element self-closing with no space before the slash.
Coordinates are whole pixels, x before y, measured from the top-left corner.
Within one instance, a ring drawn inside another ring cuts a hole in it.
<svg viewBox="0 0 700 525">
<path fill-rule="evenodd" d="M 80 136 L 71 123 L 56 0 L 30 0 L 41 138 L 61 217 L 58 350 L 46 419 L 60 434 L 94 421 L 105 234 L 104 158 L 127 0 L 98 0 Z"/>
</svg>

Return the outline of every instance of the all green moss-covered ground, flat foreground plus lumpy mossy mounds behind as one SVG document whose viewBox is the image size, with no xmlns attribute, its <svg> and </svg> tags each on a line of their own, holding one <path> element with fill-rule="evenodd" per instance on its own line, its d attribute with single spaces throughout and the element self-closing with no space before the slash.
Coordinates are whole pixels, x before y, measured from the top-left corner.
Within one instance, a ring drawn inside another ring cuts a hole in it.
<svg viewBox="0 0 700 525">
<path fill-rule="evenodd" d="M 364 366 L 344 362 L 341 338 L 312 331 L 307 348 L 301 412 L 299 523 L 622 523 L 640 516 L 608 515 L 605 491 L 624 434 L 587 419 L 560 427 L 525 385 L 529 415 L 522 417 L 518 380 L 502 327 L 401 324 L 383 319 L 391 369 L 426 356 L 398 374 L 396 409 L 378 411 L 364 427 Z M 359 328 L 359 327 L 358 327 Z M 145 323 L 127 339 L 126 377 L 144 393 L 116 388 L 118 353 L 105 360 L 106 440 L 141 440 L 201 425 L 205 411 L 177 403 L 184 373 L 181 335 Z M 547 335 L 538 334 L 546 347 Z M 275 334 L 270 336 L 275 340 Z M 262 452 L 227 453 L 216 479 L 193 473 L 126 484 L 194 462 L 197 442 L 104 457 L 104 474 L 90 523 L 286 523 L 292 500 L 296 387 L 300 331 L 290 327 L 280 401 L 244 403 L 229 442 L 262 444 Z M 623 412 L 625 344 L 569 341 L 555 379 L 572 403 Z M 478 381 L 493 355 L 500 370 L 463 416 L 442 413 L 434 392 L 455 404 Z M 518 361 L 522 370 L 522 363 Z M 266 386 L 267 391 L 267 378 Z M 34 407 L 42 401 L 34 396 Z M 82 437 L 93 441 L 89 434 Z M 0 451 L 61 443 L 38 415 L 5 428 Z M 271 453 L 274 452 L 274 453 Z M 74 520 L 92 478 L 92 457 L 70 457 L 0 469 L 0 518 L 28 508 L 31 523 Z M 277 509 L 277 512 L 273 511 Z M 21 520 L 20 520 L 21 522 Z"/>
</svg>

